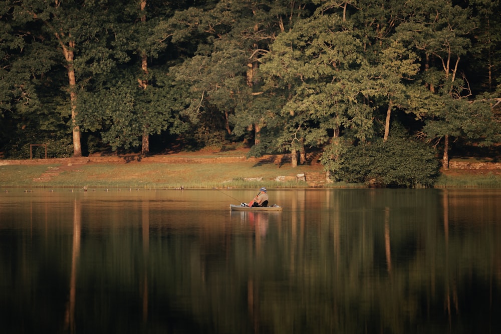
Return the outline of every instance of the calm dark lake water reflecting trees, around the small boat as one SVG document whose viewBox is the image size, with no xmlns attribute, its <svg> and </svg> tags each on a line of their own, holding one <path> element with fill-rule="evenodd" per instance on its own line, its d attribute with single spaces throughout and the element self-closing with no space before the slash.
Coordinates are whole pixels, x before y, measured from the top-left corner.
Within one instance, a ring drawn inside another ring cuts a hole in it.
<svg viewBox="0 0 501 334">
<path fill-rule="evenodd" d="M 501 332 L 501 190 L 2 191 L 0 332 Z"/>
</svg>

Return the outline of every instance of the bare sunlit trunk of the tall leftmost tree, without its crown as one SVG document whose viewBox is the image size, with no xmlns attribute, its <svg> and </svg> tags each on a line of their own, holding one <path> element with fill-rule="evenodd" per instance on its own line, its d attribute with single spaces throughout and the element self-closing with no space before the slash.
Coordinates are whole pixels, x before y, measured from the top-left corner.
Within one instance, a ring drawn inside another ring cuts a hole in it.
<svg viewBox="0 0 501 334">
<path fill-rule="evenodd" d="M 72 124 L 72 133 L 73 133 L 73 156 L 81 157 L 82 156 L 82 145 L 80 139 L 80 127 L 77 125 L 76 117 L 77 117 L 77 81 L 75 79 L 75 68 L 73 67 L 73 59 L 75 57 L 73 53 L 73 49 L 75 48 L 75 42 L 71 41 L 68 44 L 68 47 L 63 44 L 59 35 L 56 34 L 56 38 L 58 39 L 61 48 L 63 49 L 63 54 L 66 59 L 68 69 L 68 80 L 70 85 L 70 108 L 71 108 L 71 124 Z"/>
</svg>

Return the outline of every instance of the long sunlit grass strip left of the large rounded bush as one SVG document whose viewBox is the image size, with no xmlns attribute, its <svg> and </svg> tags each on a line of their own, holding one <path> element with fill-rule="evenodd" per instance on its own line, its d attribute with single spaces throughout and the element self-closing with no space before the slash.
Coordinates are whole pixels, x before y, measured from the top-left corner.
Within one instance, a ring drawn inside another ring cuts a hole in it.
<svg viewBox="0 0 501 334">
<path fill-rule="evenodd" d="M 133 188 L 259 188 L 306 187 L 305 182 L 275 181 L 277 176 L 295 176 L 309 166 L 290 168 L 252 162 L 214 163 L 89 163 L 71 168 L 57 165 L 0 166 L 0 186 L 4 187 L 133 187 Z M 44 173 L 50 179 L 36 181 Z M 262 178 L 246 180 L 247 178 Z"/>
</svg>

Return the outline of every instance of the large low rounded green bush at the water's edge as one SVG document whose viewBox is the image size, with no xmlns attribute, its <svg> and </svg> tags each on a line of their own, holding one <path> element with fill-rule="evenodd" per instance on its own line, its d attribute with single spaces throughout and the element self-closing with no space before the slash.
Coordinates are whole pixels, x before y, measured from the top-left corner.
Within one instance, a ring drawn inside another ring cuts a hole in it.
<svg viewBox="0 0 501 334">
<path fill-rule="evenodd" d="M 387 142 L 378 139 L 342 150 L 342 164 L 338 163 L 339 169 L 332 172 L 345 182 L 422 187 L 433 185 L 439 176 L 439 161 L 433 150 L 409 138 L 393 137 Z"/>
</svg>

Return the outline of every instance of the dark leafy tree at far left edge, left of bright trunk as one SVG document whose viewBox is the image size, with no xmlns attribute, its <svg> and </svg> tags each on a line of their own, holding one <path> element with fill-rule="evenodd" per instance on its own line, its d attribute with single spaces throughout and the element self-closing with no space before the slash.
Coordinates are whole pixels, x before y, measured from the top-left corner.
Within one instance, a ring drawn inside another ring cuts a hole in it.
<svg viewBox="0 0 501 334">
<path fill-rule="evenodd" d="M 4 113 L 2 146 L 12 157 L 29 156 L 29 144 L 49 143 L 49 154 L 66 156 L 65 129 L 68 120 L 60 114 L 63 94 L 56 84 L 65 80 L 58 69 L 61 52 L 46 43 L 43 23 L 34 21 L 22 3 L 6 2 L 0 25 L 5 34 L 0 46 Z M 67 71 L 66 80 L 67 80 Z M 68 142 L 70 140 L 68 139 Z"/>
</svg>

